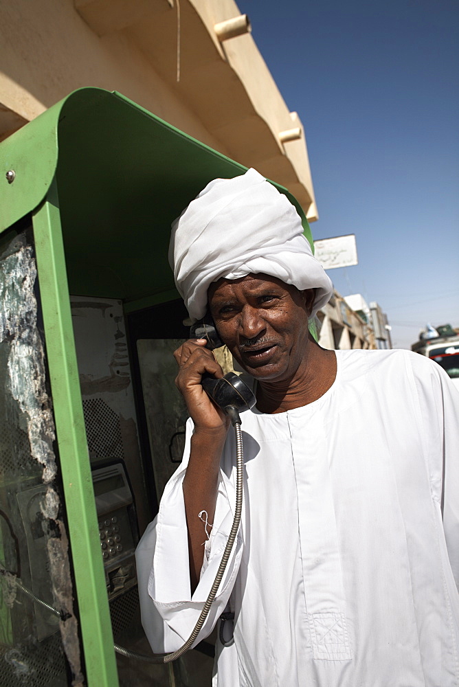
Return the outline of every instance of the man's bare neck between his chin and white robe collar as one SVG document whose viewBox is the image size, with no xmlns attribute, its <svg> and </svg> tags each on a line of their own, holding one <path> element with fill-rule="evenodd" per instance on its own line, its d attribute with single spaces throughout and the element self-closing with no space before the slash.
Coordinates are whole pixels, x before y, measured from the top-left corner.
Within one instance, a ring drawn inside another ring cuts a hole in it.
<svg viewBox="0 0 459 687">
<path fill-rule="evenodd" d="M 335 351 L 320 348 L 310 339 L 302 364 L 291 379 L 258 383 L 257 408 L 276 414 L 313 403 L 333 385 L 336 370 Z"/>
</svg>

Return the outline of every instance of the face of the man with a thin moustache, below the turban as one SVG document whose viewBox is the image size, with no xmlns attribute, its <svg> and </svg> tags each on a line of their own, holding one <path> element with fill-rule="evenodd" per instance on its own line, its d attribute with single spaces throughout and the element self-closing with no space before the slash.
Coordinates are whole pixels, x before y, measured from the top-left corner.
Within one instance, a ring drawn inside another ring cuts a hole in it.
<svg viewBox="0 0 459 687">
<path fill-rule="evenodd" d="M 289 379 L 298 370 L 314 295 L 266 274 L 220 279 L 208 291 L 221 339 L 244 370 L 266 381 Z"/>
</svg>

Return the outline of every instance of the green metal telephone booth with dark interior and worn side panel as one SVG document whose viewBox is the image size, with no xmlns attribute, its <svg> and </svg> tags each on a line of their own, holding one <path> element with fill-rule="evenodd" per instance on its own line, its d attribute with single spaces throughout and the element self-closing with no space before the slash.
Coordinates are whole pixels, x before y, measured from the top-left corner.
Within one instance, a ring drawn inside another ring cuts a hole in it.
<svg viewBox="0 0 459 687">
<path fill-rule="evenodd" d="M 114 644 L 148 654 L 133 552 L 183 444 L 170 223 L 245 168 L 94 88 L 0 161 L 1 685 L 210 684 L 212 640 L 174 666 Z"/>
</svg>

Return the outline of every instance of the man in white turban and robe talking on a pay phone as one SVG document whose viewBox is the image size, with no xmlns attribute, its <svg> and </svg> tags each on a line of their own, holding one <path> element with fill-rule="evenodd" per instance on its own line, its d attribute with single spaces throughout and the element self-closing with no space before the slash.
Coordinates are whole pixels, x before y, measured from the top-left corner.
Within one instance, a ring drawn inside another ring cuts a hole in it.
<svg viewBox="0 0 459 687">
<path fill-rule="evenodd" d="M 242 523 L 199 635 L 234 612 L 214 685 L 458 686 L 459 399 L 447 375 L 407 351 L 317 346 L 308 321 L 331 284 L 293 206 L 254 170 L 203 190 L 173 227 L 171 257 L 190 316 L 210 308 L 257 398 L 242 414 Z M 175 357 L 186 450 L 137 556 L 154 651 L 190 635 L 234 507 L 234 438 L 201 387 L 221 368 L 201 340 Z"/>
</svg>

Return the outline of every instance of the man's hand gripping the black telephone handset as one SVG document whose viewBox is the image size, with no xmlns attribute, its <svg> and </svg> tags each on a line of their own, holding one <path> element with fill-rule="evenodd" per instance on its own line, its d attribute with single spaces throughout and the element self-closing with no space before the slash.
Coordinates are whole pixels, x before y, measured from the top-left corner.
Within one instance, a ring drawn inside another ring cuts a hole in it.
<svg viewBox="0 0 459 687">
<path fill-rule="evenodd" d="M 216 379 L 223 377 L 223 370 L 212 351 L 205 348 L 205 339 L 189 339 L 174 352 L 179 365 L 175 384 L 181 392 L 194 423 L 194 433 L 225 435 L 229 418 L 210 400 L 201 385 L 205 372 Z"/>
</svg>

